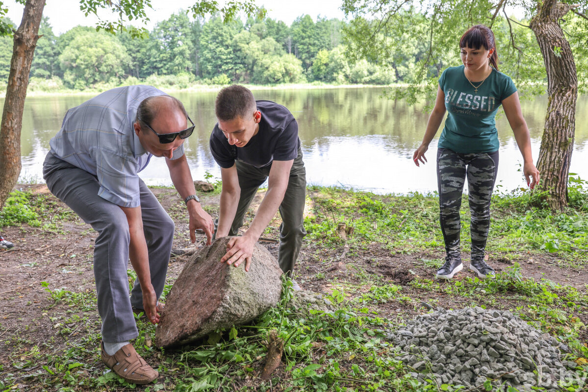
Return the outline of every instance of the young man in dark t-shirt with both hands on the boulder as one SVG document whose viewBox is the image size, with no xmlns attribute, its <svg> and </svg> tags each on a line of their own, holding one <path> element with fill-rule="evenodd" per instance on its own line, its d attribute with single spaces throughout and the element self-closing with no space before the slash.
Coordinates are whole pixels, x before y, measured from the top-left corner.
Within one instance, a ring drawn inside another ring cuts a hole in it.
<svg viewBox="0 0 588 392">
<path fill-rule="evenodd" d="M 223 88 L 216 97 L 218 123 L 212 130 L 212 156 L 220 166 L 222 192 L 216 237 L 236 236 L 260 185 L 269 177 L 268 192 L 243 236 L 229 241 L 222 262 L 249 270 L 253 247 L 276 210 L 282 216 L 278 262 L 292 273 L 302 238 L 306 169 L 298 123 L 282 105 L 258 100 L 243 86 Z M 298 289 L 298 286 L 295 285 Z"/>
</svg>

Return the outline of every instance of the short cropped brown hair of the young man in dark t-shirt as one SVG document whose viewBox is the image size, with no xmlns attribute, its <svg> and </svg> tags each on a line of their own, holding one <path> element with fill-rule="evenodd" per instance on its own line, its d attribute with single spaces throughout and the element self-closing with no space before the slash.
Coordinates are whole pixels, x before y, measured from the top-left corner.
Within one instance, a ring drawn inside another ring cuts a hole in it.
<svg viewBox="0 0 588 392">
<path fill-rule="evenodd" d="M 220 90 L 216 96 L 215 113 L 220 121 L 252 116 L 257 105 L 253 93 L 246 87 L 232 85 Z"/>
</svg>

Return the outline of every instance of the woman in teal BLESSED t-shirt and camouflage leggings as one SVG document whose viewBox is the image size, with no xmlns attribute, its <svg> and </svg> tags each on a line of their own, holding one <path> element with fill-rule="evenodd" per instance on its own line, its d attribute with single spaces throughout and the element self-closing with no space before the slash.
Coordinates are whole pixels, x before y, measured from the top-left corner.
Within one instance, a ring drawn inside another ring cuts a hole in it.
<svg viewBox="0 0 588 392">
<path fill-rule="evenodd" d="M 459 208 L 467 178 L 472 213 L 470 270 L 485 279 L 495 274 L 484 260 L 484 251 L 490 229 L 490 197 L 498 169 L 495 116 L 501 104 L 523 155 L 523 173 L 531 188 L 539 182 L 539 170 L 533 165 L 529 129 L 515 84 L 498 71 L 492 30 L 483 25 L 473 26 L 463 34 L 459 47 L 463 65 L 447 68 L 439 78 L 435 108 L 413 160 L 416 166 L 427 162 L 425 152 L 447 111 L 437 150 L 439 219 L 447 256 L 436 277 L 451 279 L 463 269 Z"/>
</svg>

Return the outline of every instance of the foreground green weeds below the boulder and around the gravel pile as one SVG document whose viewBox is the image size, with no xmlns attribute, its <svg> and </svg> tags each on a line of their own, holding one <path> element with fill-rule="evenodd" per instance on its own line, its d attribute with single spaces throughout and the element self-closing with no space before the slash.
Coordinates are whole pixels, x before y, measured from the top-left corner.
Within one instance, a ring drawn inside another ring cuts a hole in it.
<svg viewBox="0 0 588 392">
<path fill-rule="evenodd" d="M 581 355 L 587 354 L 588 350 L 575 339 L 577 331 L 584 326 L 577 321 L 577 317 L 565 311 L 580 306 L 585 308 L 586 296 L 569 287 L 520 279 L 516 269 L 490 282 L 467 279 L 466 282 L 441 285 L 430 280 L 418 280 L 413 286 L 430 291 L 443 290 L 474 300 L 490 293 L 513 292 L 529 301 L 528 309 L 517 308 L 515 313 L 535 323 L 539 329 L 555 333 L 559 340 Z M 25 378 L 29 385 L 44 390 L 134 390 L 135 385 L 112 372 L 98 373 L 101 368 L 97 349 L 99 323 L 78 314 L 79 310 L 86 310 L 82 308 L 95 298 L 84 299 L 79 293 L 48 287 L 46 290 L 56 303 L 64 301 L 72 308 L 77 307 L 76 311 L 72 310 L 65 316 L 52 318 L 59 335 L 68 336 L 81 325 L 84 330 L 93 329 L 93 333 L 86 334 L 75 343 L 73 339 L 68 341 L 69 348 L 59 356 L 49 356 L 43 353 L 43 348 L 32 346 L 14 360 L 11 373 L 2 374 L 4 380 L 0 382 L 4 384 L 0 387 L 9 390 L 11 378 L 22 377 L 28 369 L 36 367 L 35 371 L 25 374 Z M 168 290 L 169 286 L 166 287 Z M 334 313 L 294 311 L 287 306 L 290 295 L 290 289 L 285 287 L 278 306 L 249 326 L 218 331 L 203 344 L 178 351 L 159 352 L 150 346 L 146 336 L 153 336 L 155 327 L 137 319 L 139 337 L 134 342 L 135 347 L 163 375 L 158 384 L 151 384 L 145 390 L 229 392 L 235 390 L 233 385 L 240 386 L 237 390 L 241 391 L 271 391 L 278 385 L 280 390 L 301 391 L 453 390 L 451 386 L 446 386 L 447 389 L 442 386 L 432 388 L 435 383 L 421 383 L 410 377 L 408 373 L 412 369 L 396 359 L 394 347 L 387 336 L 390 329 L 402 324 L 402 319 L 380 317 L 366 306 L 393 299 L 412 301 L 403 295 L 402 287 L 393 284 L 372 286 L 368 293 L 351 299 L 345 292 L 333 290 L 328 299 L 340 307 Z M 254 383 L 255 374 L 266 355 L 264 340 L 271 330 L 278 331 L 286 342 L 283 362 L 287 377 L 276 375 L 271 380 Z M 30 346 L 31 343 L 21 341 L 16 344 Z M 42 364 L 40 368 L 39 364 Z M 584 370 L 577 371 L 582 374 Z"/>
</svg>

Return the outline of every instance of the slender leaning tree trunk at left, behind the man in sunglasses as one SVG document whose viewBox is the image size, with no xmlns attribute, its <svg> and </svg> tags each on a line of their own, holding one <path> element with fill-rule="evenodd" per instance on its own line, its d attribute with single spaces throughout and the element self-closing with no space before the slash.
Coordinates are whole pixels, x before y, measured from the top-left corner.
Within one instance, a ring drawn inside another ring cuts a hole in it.
<svg viewBox="0 0 588 392">
<path fill-rule="evenodd" d="M 14 32 L 14 48 L 0 124 L 0 210 L 21 174 L 22 112 L 44 7 L 45 0 L 26 0 L 21 25 Z"/>
</svg>

